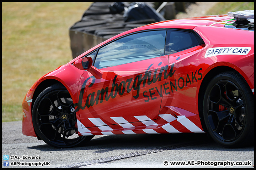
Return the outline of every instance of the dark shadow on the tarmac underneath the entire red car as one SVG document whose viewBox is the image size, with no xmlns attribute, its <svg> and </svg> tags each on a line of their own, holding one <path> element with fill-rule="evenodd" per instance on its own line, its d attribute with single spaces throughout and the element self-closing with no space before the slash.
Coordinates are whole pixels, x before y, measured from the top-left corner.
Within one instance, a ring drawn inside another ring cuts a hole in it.
<svg viewBox="0 0 256 170">
<path fill-rule="evenodd" d="M 54 148 L 49 145 L 38 145 L 27 148 L 41 152 L 96 150 L 94 153 L 105 153 L 114 150 L 147 150 L 155 148 L 169 150 L 174 149 L 172 146 L 178 145 L 180 145 L 178 149 L 189 148 L 213 151 L 252 151 L 254 149 L 253 145 L 241 146 L 241 148 L 225 148 L 215 143 L 206 133 L 102 135 L 95 136 L 92 140 L 79 147 Z"/>
</svg>

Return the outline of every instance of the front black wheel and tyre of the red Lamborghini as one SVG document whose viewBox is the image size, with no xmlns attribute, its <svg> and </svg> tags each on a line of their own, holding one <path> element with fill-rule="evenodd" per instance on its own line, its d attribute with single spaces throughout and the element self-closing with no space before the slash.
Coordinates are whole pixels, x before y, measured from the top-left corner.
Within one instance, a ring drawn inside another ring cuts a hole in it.
<svg viewBox="0 0 256 170">
<path fill-rule="evenodd" d="M 78 146 L 94 136 L 78 136 L 71 96 L 62 84 L 43 90 L 34 102 L 32 122 L 39 138 L 55 148 Z"/>
</svg>

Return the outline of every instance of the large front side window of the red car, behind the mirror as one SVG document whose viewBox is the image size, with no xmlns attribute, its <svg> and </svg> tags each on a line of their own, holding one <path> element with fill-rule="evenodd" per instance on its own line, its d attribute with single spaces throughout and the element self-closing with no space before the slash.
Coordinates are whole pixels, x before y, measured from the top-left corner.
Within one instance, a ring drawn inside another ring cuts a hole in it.
<svg viewBox="0 0 256 170">
<path fill-rule="evenodd" d="M 164 55 L 166 30 L 128 35 L 99 49 L 94 67 L 105 68 Z"/>
</svg>

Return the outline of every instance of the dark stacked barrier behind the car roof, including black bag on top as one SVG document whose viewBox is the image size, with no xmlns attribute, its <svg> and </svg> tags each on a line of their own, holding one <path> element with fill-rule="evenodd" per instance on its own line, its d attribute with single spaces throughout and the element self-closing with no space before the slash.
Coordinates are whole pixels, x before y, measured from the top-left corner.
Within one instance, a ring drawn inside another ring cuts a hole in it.
<svg viewBox="0 0 256 170">
<path fill-rule="evenodd" d="M 155 3 L 155 4 L 154 4 Z M 174 3 L 166 5 L 163 12 L 156 12 L 153 6 L 160 2 L 94 2 L 83 13 L 81 20 L 69 28 L 72 57 L 100 44 L 101 42 L 146 24 L 175 19 Z M 136 5 L 137 4 L 137 5 Z M 182 4 L 184 5 L 184 4 Z M 170 13 L 171 15 L 166 15 Z"/>
</svg>

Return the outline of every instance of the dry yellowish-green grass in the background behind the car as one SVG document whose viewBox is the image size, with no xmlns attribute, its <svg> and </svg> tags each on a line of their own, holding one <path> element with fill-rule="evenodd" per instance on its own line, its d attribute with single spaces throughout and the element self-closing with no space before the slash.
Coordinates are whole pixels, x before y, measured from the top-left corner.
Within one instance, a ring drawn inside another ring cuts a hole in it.
<svg viewBox="0 0 256 170">
<path fill-rule="evenodd" d="M 69 28 L 90 2 L 2 2 L 2 121 L 22 120 L 21 103 L 42 75 L 72 60 Z M 220 2 L 208 15 L 254 9 Z"/>
</svg>

